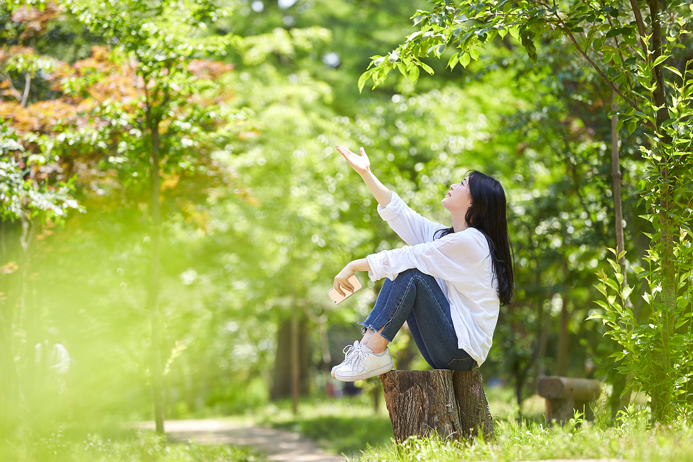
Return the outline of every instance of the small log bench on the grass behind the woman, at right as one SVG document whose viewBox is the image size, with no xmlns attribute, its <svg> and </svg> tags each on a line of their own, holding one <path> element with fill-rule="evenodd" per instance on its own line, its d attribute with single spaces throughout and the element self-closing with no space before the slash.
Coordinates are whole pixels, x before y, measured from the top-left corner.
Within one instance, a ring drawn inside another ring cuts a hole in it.
<svg viewBox="0 0 693 462">
<path fill-rule="evenodd" d="M 599 398 L 602 383 L 591 379 L 540 377 L 536 389 L 546 400 L 546 421 L 564 423 L 573 418 L 576 409 L 584 412 L 586 420 L 594 418 L 588 405 Z"/>
</svg>

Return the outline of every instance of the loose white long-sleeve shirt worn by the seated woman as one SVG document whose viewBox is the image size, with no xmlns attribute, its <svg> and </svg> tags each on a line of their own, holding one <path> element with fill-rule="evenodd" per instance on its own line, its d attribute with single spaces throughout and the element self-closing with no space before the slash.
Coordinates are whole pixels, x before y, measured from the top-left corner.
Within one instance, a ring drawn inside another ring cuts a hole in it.
<svg viewBox="0 0 693 462">
<path fill-rule="evenodd" d="M 407 245 L 367 256 L 371 281 L 385 277 L 394 281 L 411 268 L 435 277 L 450 303 L 457 348 L 464 349 L 481 366 L 493 344 L 500 312 L 484 234 L 470 227 L 433 240 L 433 233 L 446 226 L 414 212 L 394 191 L 385 208 L 378 205 L 378 213 Z"/>
</svg>

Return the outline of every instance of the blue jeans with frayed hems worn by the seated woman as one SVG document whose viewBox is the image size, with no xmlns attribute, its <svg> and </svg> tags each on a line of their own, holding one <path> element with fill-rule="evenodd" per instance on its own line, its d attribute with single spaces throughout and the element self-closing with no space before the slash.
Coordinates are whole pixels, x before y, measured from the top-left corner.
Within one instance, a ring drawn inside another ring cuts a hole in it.
<svg viewBox="0 0 693 462">
<path fill-rule="evenodd" d="M 423 359 L 432 368 L 470 371 L 477 366 L 465 350 L 457 348 L 450 303 L 445 294 L 433 276 L 419 269 L 407 269 L 394 281 L 385 279 L 376 305 L 359 324 L 376 332 L 383 329 L 380 336 L 392 341 L 404 321 Z"/>
</svg>

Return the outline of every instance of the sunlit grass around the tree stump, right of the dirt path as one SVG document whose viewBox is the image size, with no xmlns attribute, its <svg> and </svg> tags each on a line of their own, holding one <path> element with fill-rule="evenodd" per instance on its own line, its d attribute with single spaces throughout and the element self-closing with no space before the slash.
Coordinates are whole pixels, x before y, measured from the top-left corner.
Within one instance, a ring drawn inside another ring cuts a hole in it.
<svg viewBox="0 0 693 462">
<path fill-rule="evenodd" d="M 349 460 L 370 461 L 532 461 L 541 459 L 622 459 L 633 462 L 693 462 L 693 429 L 680 423 L 676 429 L 649 429 L 644 412 L 603 424 L 606 402 L 597 403 L 597 424 L 579 416 L 565 426 L 548 427 L 544 400 L 527 398 L 521 407 L 507 389 L 486 389 L 495 426 L 495 441 L 459 443 L 412 438 L 392 443 L 392 427 L 383 400 L 374 411 L 371 396 L 301 402 L 292 414 L 290 402 L 256 410 L 249 422 L 299 432 L 318 441 L 325 450 Z M 603 398 L 604 399 L 604 398 Z"/>
</svg>

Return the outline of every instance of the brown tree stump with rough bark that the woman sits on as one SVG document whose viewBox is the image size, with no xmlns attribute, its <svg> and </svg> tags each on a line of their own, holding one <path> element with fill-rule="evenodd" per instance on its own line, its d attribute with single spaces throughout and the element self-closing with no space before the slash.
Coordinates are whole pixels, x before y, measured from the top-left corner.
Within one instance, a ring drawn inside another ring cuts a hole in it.
<svg viewBox="0 0 693 462">
<path fill-rule="evenodd" d="M 489 402 L 477 371 L 390 371 L 380 375 L 396 441 L 437 434 L 493 438 Z"/>
</svg>

